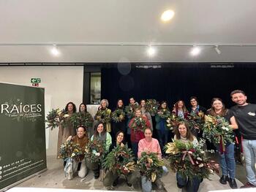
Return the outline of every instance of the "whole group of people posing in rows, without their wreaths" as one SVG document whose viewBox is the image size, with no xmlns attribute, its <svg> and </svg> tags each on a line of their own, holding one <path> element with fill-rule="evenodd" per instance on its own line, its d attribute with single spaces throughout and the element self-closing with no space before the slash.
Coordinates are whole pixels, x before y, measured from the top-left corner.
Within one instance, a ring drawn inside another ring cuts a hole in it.
<svg viewBox="0 0 256 192">
<path fill-rule="evenodd" d="M 245 157 L 246 164 L 246 178 L 248 182 L 243 186 L 256 187 L 256 104 L 249 104 L 246 102 L 246 94 L 244 91 L 236 90 L 230 93 L 232 101 L 236 103 L 236 106 L 232 107 L 230 110 L 225 108 L 222 99 L 214 98 L 211 102 L 211 109 L 206 110 L 198 104 L 197 98 L 192 96 L 190 98 L 191 108 L 187 110 L 184 101 L 178 101 L 174 104 L 173 110 L 169 110 L 167 107 L 167 101 L 160 102 L 158 112 L 152 116 L 145 109 L 146 100 L 141 100 L 138 104 L 134 98 L 129 99 L 129 107 L 133 113 L 127 114 L 126 118 L 122 118 L 118 122 L 108 122 L 101 123 L 97 115 L 94 117 L 95 126 L 94 128 L 79 126 L 79 128 L 74 128 L 72 125 L 68 124 L 68 128 L 59 128 L 59 146 L 62 142 L 67 139 L 72 139 L 78 142 L 80 145 L 86 145 L 88 139 L 101 139 L 105 141 L 105 150 L 109 151 L 115 145 L 124 145 L 127 143 L 135 155 L 135 158 L 140 158 L 140 153 L 145 151 L 146 153 L 158 153 L 159 158 L 163 158 L 165 152 L 163 147 L 167 142 L 171 142 L 172 139 L 181 139 L 182 142 L 197 142 L 197 139 L 202 137 L 202 131 L 197 128 L 189 128 L 187 123 L 180 122 L 173 131 L 167 127 L 167 122 L 165 119 L 165 114 L 173 113 L 181 119 L 186 121 L 189 113 L 204 112 L 206 115 L 221 116 L 227 120 L 230 124 L 230 128 L 238 130 L 242 136 L 241 145 L 243 147 L 243 153 Z M 100 102 L 100 107 L 98 110 L 105 110 L 106 114 L 111 114 L 111 110 L 108 109 L 108 100 L 102 99 Z M 116 110 L 124 111 L 124 102 L 118 99 Z M 76 112 L 75 104 L 69 102 L 65 108 L 65 111 L 72 115 Z M 80 104 L 79 112 L 86 113 L 86 104 Z M 88 113 L 88 112 L 87 112 Z M 155 120 L 155 126 L 153 125 L 153 118 Z M 143 124 L 138 123 L 138 119 L 143 120 Z M 154 129 L 157 132 L 156 139 L 152 138 Z M 77 134 L 75 131 L 77 130 Z M 71 136 L 71 137 L 70 137 Z M 111 147 L 112 146 L 112 147 Z M 225 153 L 219 150 L 219 146 L 215 146 L 219 151 L 219 163 L 222 169 L 222 177 L 220 177 L 219 182 L 223 185 L 229 183 L 231 188 L 237 188 L 236 184 L 236 161 L 235 161 L 235 151 L 234 144 L 227 143 L 225 145 Z M 85 176 L 87 173 L 87 167 L 91 167 L 94 171 L 94 177 L 97 179 L 99 177 L 100 165 L 86 165 L 86 161 L 81 159 L 80 161 L 83 166 L 80 166 L 79 176 Z M 72 164 L 72 162 L 67 162 L 67 164 Z M 72 178 L 72 172 L 78 169 L 77 164 L 72 164 L 72 170 L 69 169 L 69 178 Z M 67 171 L 65 169 L 65 171 Z M 180 177 L 177 173 L 177 185 L 179 188 L 187 187 L 190 191 L 197 191 L 202 180 L 199 180 L 195 176 L 195 180 L 187 180 L 184 177 Z M 108 183 L 109 182 L 103 182 Z M 111 183 L 111 182 L 110 182 Z M 117 180 L 114 180 L 112 185 L 116 185 Z M 128 185 L 132 184 L 132 179 L 127 179 Z M 162 187 L 161 183 L 157 180 L 157 186 Z M 143 191 L 151 190 L 151 183 L 148 180 L 142 178 Z"/>
</svg>

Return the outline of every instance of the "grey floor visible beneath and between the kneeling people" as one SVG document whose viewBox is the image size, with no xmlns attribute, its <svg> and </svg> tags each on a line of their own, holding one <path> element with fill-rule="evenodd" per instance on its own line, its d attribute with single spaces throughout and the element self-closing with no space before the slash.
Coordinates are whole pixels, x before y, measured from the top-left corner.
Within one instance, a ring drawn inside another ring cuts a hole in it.
<svg viewBox="0 0 256 192">
<path fill-rule="evenodd" d="M 79 177 L 74 177 L 72 180 L 67 180 L 64 176 L 63 170 L 63 161 L 57 160 L 56 156 L 48 156 L 48 170 L 42 172 L 36 177 L 32 177 L 29 180 L 18 185 L 18 187 L 34 187 L 34 188 L 73 188 L 73 189 L 89 189 L 89 190 L 106 190 L 102 185 L 102 182 L 94 180 L 92 172 L 81 179 Z M 245 172 L 244 166 L 237 166 L 237 179 L 244 182 Z M 237 180 L 238 186 L 241 186 L 242 183 Z M 162 177 L 162 183 L 165 185 L 164 191 L 181 191 L 176 186 L 176 174 L 169 172 L 167 176 Z M 154 188 L 155 189 L 155 188 Z M 219 176 L 214 174 L 210 180 L 204 180 L 200 185 L 200 192 L 209 191 L 209 190 L 218 190 L 218 189 L 230 189 L 229 185 L 222 185 L 219 183 Z M 120 179 L 118 185 L 113 189 L 114 191 L 141 191 L 140 181 L 138 180 L 137 185 L 134 187 L 128 187 L 124 179 Z M 157 190 L 154 190 L 157 191 Z M 159 191 L 160 192 L 160 191 Z"/>
</svg>

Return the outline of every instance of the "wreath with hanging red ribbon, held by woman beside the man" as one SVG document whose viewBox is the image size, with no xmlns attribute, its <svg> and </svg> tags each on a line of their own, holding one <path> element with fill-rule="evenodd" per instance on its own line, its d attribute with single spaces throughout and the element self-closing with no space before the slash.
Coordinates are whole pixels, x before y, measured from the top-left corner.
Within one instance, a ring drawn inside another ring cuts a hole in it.
<svg viewBox="0 0 256 192">
<path fill-rule="evenodd" d="M 230 123 L 225 118 L 206 115 L 203 137 L 213 142 L 214 145 L 220 145 L 222 153 L 225 151 L 227 142 L 233 143 L 233 129 L 230 128 Z"/>
</svg>

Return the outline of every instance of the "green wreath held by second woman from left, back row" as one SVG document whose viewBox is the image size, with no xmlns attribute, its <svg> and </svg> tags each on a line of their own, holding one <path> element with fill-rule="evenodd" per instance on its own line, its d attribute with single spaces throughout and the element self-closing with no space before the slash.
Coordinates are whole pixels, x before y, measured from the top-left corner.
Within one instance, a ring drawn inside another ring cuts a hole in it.
<svg viewBox="0 0 256 192">
<path fill-rule="evenodd" d="M 89 112 L 76 112 L 70 117 L 70 122 L 75 128 L 78 126 L 85 126 L 86 128 L 92 127 L 94 119 Z"/>
</svg>

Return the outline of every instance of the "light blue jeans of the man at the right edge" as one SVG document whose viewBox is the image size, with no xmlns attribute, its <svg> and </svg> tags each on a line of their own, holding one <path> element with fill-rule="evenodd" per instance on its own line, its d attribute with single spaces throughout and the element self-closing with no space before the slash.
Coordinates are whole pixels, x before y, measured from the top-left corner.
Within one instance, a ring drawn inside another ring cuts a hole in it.
<svg viewBox="0 0 256 192">
<path fill-rule="evenodd" d="M 242 146 L 245 158 L 246 178 L 249 183 L 256 185 L 256 140 L 243 139 Z"/>
</svg>

